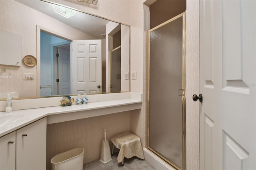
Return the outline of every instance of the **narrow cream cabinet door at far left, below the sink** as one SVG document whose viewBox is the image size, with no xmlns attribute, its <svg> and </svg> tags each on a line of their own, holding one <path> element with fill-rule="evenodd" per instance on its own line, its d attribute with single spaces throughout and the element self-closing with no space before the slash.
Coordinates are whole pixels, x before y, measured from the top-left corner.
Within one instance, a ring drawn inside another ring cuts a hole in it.
<svg viewBox="0 0 256 170">
<path fill-rule="evenodd" d="M 15 170 L 16 131 L 0 138 L 0 169 Z"/>
</svg>

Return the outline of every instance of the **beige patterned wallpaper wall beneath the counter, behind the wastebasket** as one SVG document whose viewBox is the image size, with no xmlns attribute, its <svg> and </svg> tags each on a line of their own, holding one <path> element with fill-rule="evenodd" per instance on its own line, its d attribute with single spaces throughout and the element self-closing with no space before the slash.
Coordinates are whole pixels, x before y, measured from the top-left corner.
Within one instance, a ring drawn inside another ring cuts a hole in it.
<svg viewBox="0 0 256 170">
<path fill-rule="evenodd" d="M 105 128 L 112 148 L 112 136 L 130 132 L 130 111 L 47 125 L 47 170 L 52 157 L 73 148 L 84 148 L 84 164 L 100 159 Z"/>
</svg>

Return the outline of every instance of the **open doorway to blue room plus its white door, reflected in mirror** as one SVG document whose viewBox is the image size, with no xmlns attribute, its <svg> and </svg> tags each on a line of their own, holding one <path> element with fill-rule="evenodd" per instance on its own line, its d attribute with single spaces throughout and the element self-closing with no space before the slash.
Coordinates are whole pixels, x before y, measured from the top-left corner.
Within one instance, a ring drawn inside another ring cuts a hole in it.
<svg viewBox="0 0 256 170">
<path fill-rule="evenodd" d="M 40 96 L 101 93 L 101 40 L 71 43 L 41 31 L 40 41 Z"/>
</svg>

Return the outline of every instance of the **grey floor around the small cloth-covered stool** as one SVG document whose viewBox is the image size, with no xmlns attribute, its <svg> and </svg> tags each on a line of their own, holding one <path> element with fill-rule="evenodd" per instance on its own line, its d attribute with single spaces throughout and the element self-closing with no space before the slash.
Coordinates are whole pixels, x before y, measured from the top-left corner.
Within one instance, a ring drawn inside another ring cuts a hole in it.
<svg viewBox="0 0 256 170">
<path fill-rule="evenodd" d="M 83 170 L 155 170 L 148 162 L 141 160 L 136 156 L 127 159 L 124 158 L 124 166 L 117 163 L 117 153 L 112 155 L 112 160 L 106 164 L 96 160 L 84 165 Z"/>
</svg>

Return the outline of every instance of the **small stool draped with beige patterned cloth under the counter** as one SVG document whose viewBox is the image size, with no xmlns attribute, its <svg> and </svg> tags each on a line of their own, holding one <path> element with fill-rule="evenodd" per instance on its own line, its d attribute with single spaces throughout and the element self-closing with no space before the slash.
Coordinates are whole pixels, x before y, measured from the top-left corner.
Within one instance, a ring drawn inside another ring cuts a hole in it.
<svg viewBox="0 0 256 170">
<path fill-rule="evenodd" d="M 118 163 L 122 162 L 122 166 L 124 166 L 124 157 L 132 158 L 137 156 L 140 159 L 144 159 L 140 138 L 135 134 L 125 132 L 112 137 L 110 141 L 113 143 L 112 155 L 114 154 L 114 146 L 120 149 L 117 161 Z"/>
</svg>

